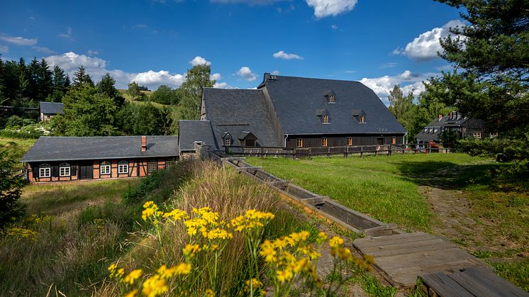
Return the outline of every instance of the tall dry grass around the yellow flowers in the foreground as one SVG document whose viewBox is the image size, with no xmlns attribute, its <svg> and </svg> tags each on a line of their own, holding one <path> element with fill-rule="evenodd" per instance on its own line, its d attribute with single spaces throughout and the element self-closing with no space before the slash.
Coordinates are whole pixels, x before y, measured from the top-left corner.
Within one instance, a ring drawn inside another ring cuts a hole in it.
<svg viewBox="0 0 529 297">
<path fill-rule="evenodd" d="M 221 220 L 229 221 L 249 209 L 257 209 L 276 215 L 267 227 L 270 237 L 276 238 L 299 230 L 310 230 L 316 235 L 316 228 L 297 219 L 287 209 L 289 206 L 279 201 L 269 187 L 256 184 L 234 169 L 221 168 L 213 162 L 198 162 L 194 164 L 193 172 L 192 178 L 175 192 L 174 198 L 162 206 L 162 211 L 179 208 L 191 213 L 193 208 L 208 206 L 213 212 L 219 213 Z M 121 259 L 120 265 L 129 271 L 141 268 L 148 274 L 154 273 L 162 264 L 169 267 L 182 262 L 182 248 L 190 242 L 186 228 L 182 224 L 165 225 L 161 233 L 161 245 L 151 230 L 145 234 L 145 240 Z M 220 288 L 222 296 L 235 296 L 240 292 L 248 276 L 248 259 L 243 236 L 235 234 L 221 254 L 221 265 L 218 267 L 218 275 L 221 277 L 217 280 L 216 288 Z M 204 277 L 193 293 L 204 296 L 207 288 L 208 278 Z M 107 296 L 117 292 L 114 284 L 108 284 L 98 291 Z"/>
</svg>

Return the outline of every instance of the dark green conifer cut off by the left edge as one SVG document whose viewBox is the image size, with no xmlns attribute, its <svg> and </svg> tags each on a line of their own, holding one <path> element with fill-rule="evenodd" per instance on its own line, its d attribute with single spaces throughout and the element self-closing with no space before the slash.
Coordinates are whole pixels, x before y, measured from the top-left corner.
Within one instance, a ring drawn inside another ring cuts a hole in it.
<svg viewBox="0 0 529 297">
<path fill-rule="evenodd" d="M 15 160 L 0 150 L 0 228 L 12 218 L 22 214 L 23 206 L 18 202 L 24 181 L 15 175 Z"/>
</svg>

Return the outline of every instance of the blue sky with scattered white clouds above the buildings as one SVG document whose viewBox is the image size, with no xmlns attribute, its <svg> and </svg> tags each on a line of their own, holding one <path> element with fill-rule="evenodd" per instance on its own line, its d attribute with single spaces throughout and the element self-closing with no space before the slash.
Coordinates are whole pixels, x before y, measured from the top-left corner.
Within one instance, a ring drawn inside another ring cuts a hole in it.
<svg viewBox="0 0 529 297">
<path fill-rule="evenodd" d="M 460 25 L 430 0 L 6 1 L 4 60 L 44 57 L 119 87 L 179 86 L 211 63 L 218 87 L 251 88 L 264 72 L 359 80 L 384 99 L 393 84 L 419 94 L 447 69 L 438 39 Z"/>
</svg>

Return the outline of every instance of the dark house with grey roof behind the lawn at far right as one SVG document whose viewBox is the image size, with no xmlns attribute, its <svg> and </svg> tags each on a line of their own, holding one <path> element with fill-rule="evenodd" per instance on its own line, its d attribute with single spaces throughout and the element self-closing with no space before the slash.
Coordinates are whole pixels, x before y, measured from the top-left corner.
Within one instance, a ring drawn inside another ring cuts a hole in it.
<svg viewBox="0 0 529 297">
<path fill-rule="evenodd" d="M 491 133 L 483 120 L 463 116 L 458 111 L 452 111 L 448 116 L 439 115 L 415 138 L 418 143 L 440 143 L 442 135 L 452 133 L 456 138 L 495 138 L 498 133 Z"/>
</svg>

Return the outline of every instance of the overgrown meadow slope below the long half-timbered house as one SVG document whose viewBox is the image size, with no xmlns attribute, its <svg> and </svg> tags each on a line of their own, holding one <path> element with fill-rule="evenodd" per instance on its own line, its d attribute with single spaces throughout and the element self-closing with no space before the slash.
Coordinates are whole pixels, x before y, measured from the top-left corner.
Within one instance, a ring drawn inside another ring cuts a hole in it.
<svg viewBox="0 0 529 297">
<path fill-rule="evenodd" d="M 26 216 L 0 233 L 0 295 L 46 296 L 49 289 L 91 295 L 108 276 L 108 264 L 135 240 L 130 232 L 141 230 L 143 201 L 125 203 L 123 194 L 148 191 L 145 198 L 163 201 L 188 171 L 179 164 L 142 186 L 140 179 L 26 186 Z"/>
</svg>

